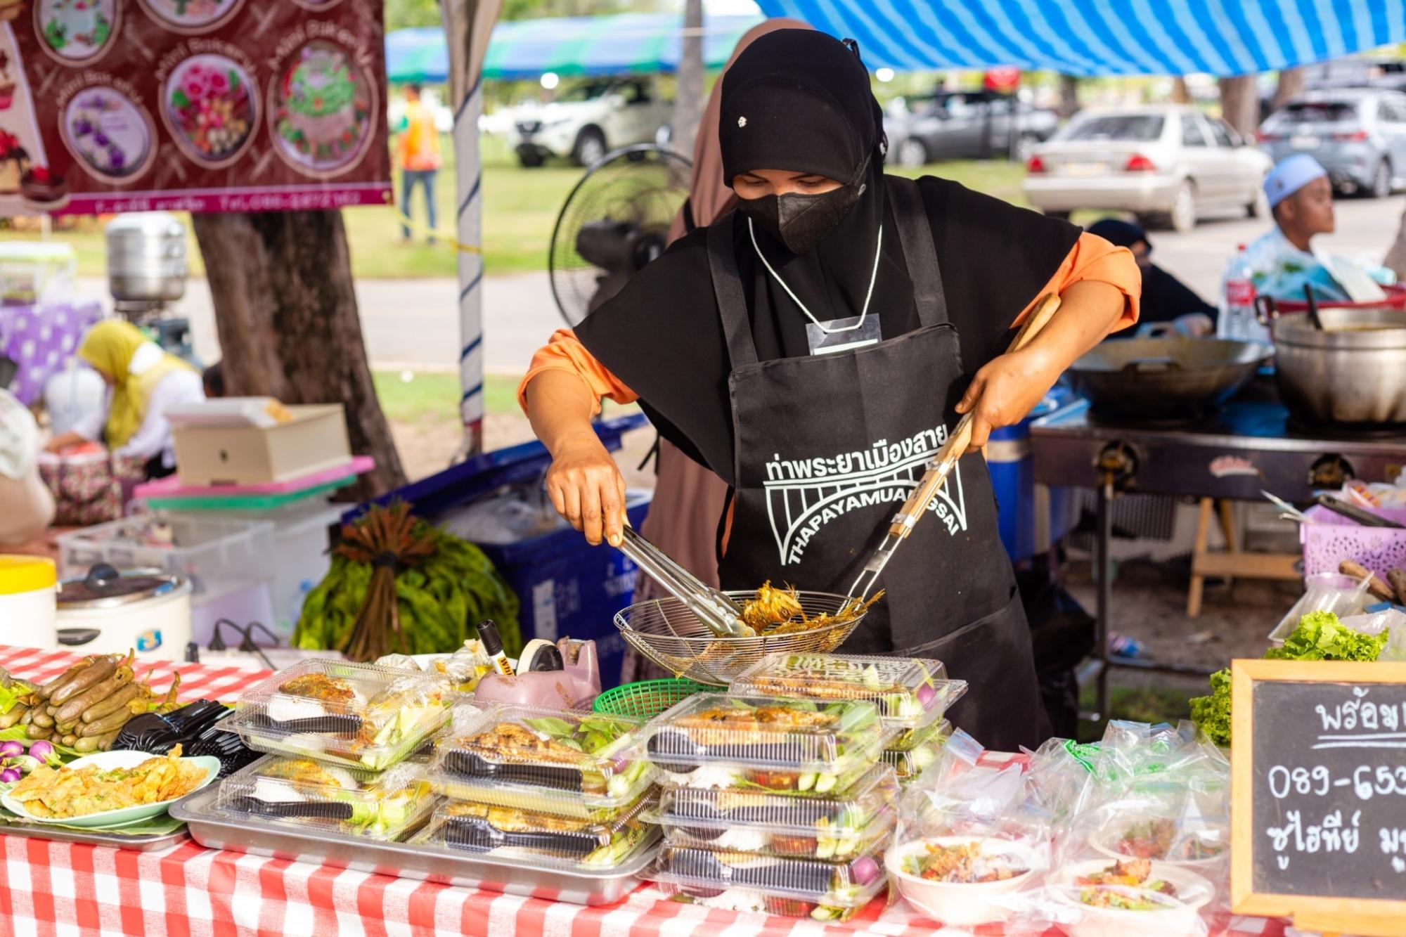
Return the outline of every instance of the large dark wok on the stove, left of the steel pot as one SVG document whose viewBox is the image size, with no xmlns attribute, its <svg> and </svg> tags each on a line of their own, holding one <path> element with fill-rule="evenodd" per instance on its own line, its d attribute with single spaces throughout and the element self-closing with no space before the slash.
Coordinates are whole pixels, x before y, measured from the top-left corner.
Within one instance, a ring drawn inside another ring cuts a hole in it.
<svg viewBox="0 0 1406 937">
<path fill-rule="evenodd" d="M 1070 366 L 1092 411 L 1122 419 L 1184 419 L 1215 411 L 1274 349 L 1229 339 L 1114 339 Z"/>
</svg>

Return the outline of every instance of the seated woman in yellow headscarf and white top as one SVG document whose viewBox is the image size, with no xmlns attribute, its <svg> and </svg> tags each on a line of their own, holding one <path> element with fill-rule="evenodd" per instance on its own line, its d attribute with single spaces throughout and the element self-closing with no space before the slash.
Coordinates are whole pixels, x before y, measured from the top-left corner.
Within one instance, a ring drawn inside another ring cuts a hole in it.
<svg viewBox="0 0 1406 937">
<path fill-rule="evenodd" d="M 77 356 L 111 388 L 107 412 L 55 436 L 46 449 L 60 452 L 84 442 L 103 442 L 115 456 L 145 461 L 149 477 L 169 476 L 176 468 L 176 456 L 166 409 L 205 400 L 195 369 L 163 352 L 125 319 L 104 319 L 90 328 Z"/>
</svg>

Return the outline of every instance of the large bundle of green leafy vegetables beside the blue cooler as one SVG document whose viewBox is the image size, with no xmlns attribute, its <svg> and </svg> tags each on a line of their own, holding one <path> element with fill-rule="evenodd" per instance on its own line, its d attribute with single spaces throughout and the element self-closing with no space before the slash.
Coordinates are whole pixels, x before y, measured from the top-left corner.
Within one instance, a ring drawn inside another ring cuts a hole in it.
<svg viewBox="0 0 1406 937">
<path fill-rule="evenodd" d="M 367 535 L 385 526 L 384 512 L 395 512 L 398 508 L 373 508 L 354 525 L 349 525 L 350 530 L 344 530 L 343 537 L 374 542 Z M 378 615 L 378 623 L 371 623 L 392 633 L 382 636 L 381 646 L 385 650 L 378 650 L 371 658 L 392 651 L 453 653 L 465 639 L 475 637 L 470 632 L 470 622 L 485 618 L 498 623 L 503 651 L 517 654 L 522 650 L 517 595 L 484 552 L 419 518 L 409 519 L 405 533 L 406 539 L 413 539 L 413 563 L 401 563 L 395 568 L 394 613 L 387 609 Z M 366 549 L 333 550 L 332 568 L 302 604 L 298 626 L 292 632 L 294 647 L 346 651 L 375 644 L 364 640 L 368 626 L 364 613 L 378 568 L 377 585 L 388 584 L 385 567 L 378 567 L 378 559 L 375 552 Z"/>
</svg>

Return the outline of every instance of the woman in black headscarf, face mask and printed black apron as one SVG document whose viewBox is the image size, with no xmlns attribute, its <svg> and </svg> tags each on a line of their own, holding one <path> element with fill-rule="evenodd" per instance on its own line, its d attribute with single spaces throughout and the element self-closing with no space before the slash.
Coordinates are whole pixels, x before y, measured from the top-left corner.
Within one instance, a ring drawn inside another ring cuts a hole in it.
<svg viewBox="0 0 1406 937">
<path fill-rule="evenodd" d="M 972 450 L 844 650 L 942 660 L 970 684 L 956 725 L 988 747 L 1035 747 L 1047 722 L 977 449 L 1136 321 L 1136 263 L 956 183 L 884 174 L 869 75 L 852 44 L 823 32 L 748 46 L 723 77 L 718 132 L 738 210 L 675 242 L 574 335 L 554 335 L 523 378 L 553 502 L 592 543 L 620 543 L 624 481 L 589 421 L 602 397 L 638 400 L 731 487 L 724 588 L 845 592 L 973 411 Z M 1060 310 L 1002 355 L 1049 291 Z"/>
</svg>

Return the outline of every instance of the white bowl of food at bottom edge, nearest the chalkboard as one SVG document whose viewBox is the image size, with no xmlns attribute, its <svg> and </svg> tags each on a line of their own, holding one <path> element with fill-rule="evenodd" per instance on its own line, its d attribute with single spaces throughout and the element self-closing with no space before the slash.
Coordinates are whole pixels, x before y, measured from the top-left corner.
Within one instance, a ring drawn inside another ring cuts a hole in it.
<svg viewBox="0 0 1406 937">
<path fill-rule="evenodd" d="M 1054 899 L 1071 920 L 1069 937 L 1201 937 L 1215 889 L 1188 868 L 1150 860 L 1088 860 L 1059 869 Z"/>
</svg>

